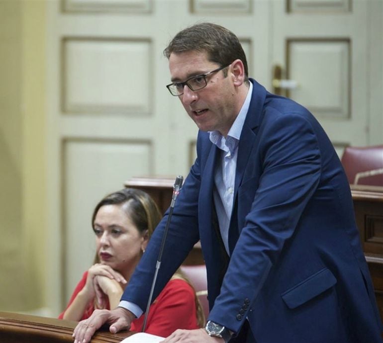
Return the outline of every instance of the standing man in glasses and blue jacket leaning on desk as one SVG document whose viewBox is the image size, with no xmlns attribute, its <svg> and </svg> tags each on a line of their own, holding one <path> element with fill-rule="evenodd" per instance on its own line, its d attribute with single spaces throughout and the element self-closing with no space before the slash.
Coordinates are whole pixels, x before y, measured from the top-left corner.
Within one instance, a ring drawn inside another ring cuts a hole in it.
<svg viewBox="0 0 383 343">
<path fill-rule="evenodd" d="M 315 118 L 248 79 L 238 38 L 221 26 L 191 26 L 165 54 L 167 87 L 199 132 L 154 297 L 200 239 L 210 314 L 205 329 L 177 330 L 164 342 L 382 342 L 349 184 Z M 77 342 L 141 315 L 166 221 L 120 307 L 81 322 Z"/>
</svg>

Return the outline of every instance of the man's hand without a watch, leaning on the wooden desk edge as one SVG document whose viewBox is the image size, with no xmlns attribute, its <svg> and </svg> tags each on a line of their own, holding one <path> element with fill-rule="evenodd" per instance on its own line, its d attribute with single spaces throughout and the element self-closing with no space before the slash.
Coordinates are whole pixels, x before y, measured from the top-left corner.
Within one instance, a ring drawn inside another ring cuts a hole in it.
<svg viewBox="0 0 383 343">
<path fill-rule="evenodd" d="M 72 337 L 75 343 L 88 343 L 103 324 L 111 324 L 109 331 L 112 334 L 121 330 L 128 330 L 135 316 L 130 311 L 117 307 L 109 310 L 95 310 L 92 316 L 81 321 L 75 328 Z"/>
</svg>

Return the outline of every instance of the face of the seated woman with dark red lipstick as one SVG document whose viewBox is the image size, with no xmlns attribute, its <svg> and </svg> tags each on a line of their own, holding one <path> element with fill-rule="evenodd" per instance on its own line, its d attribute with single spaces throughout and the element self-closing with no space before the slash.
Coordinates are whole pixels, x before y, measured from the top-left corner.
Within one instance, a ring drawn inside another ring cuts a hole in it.
<svg viewBox="0 0 383 343">
<path fill-rule="evenodd" d="M 128 204 L 104 205 L 96 214 L 94 231 L 100 263 L 124 274 L 134 270 L 145 249 L 147 238 L 124 211 Z"/>
</svg>

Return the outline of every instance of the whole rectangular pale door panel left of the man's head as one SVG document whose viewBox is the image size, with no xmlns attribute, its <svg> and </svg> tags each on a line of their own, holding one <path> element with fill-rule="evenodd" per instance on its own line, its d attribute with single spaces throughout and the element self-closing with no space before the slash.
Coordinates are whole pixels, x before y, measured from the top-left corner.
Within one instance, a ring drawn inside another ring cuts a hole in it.
<svg viewBox="0 0 383 343">
<path fill-rule="evenodd" d="M 67 37 L 62 55 L 63 112 L 151 111 L 149 40 Z"/>
</svg>

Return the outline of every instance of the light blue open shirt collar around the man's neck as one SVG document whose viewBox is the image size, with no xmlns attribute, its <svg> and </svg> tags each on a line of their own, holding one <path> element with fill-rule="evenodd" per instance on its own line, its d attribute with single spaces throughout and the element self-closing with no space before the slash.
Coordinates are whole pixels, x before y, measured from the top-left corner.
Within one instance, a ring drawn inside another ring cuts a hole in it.
<svg viewBox="0 0 383 343">
<path fill-rule="evenodd" d="M 237 147 L 239 142 L 239 137 L 241 136 L 243 124 L 246 119 L 246 114 L 249 110 L 250 106 L 250 100 L 251 100 L 251 94 L 253 92 L 253 84 L 249 82 L 249 90 L 246 95 L 246 99 L 241 107 L 241 110 L 239 111 L 237 117 L 234 120 L 233 125 L 231 126 L 227 137 L 223 137 L 219 131 L 209 131 L 209 138 L 211 143 L 215 144 L 218 148 L 222 149 L 224 145 L 226 145 L 230 152 L 232 153 L 233 150 Z M 222 149 L 225 150 L 225 149 Z"/>
</svg>

